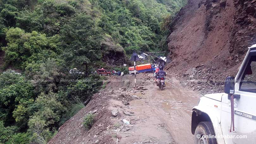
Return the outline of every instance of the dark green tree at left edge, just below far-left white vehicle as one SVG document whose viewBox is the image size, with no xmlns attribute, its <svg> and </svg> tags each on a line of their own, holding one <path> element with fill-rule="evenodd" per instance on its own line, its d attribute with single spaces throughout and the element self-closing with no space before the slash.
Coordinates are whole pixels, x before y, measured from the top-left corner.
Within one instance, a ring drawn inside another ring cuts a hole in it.
<svg viewBox="0 0 256 144">
<path fill-rule="evenodd" d="M 28 120 L 27 108 L 34 102 L 34 87 L 30 82 L 26 82 L 24 77 L 12 73 L 0 75 L 0 80 L 6 77 L 9 77 L 10 81 L 2 84 L 0 89 L 0 119 L 6 125 L 16 122 L 21 126 Z"/>
</svg>

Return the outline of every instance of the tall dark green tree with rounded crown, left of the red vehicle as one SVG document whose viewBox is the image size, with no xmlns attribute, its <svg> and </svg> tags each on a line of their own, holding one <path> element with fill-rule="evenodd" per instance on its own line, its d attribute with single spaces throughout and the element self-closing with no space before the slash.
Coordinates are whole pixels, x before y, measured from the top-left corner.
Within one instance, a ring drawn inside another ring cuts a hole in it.
<svg viewBox="0 0 256 144">
<path fill-rule="evenodd" d="M 64 25 L 61 36 L 66 47 L 63 54 L 66 62 L 80 68 L 85 66 L 88 75 L 89 66 L 102 57 L 101 28 L 90 16 L 80 14 Z"/>
</svg>

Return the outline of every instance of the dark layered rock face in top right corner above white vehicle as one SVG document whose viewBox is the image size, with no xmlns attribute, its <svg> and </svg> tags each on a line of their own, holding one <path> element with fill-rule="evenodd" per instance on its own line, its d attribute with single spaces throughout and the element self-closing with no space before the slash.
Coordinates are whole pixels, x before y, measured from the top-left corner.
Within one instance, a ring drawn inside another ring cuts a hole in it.
<svg viewBox="0 0 256 144">
<path fill-rule="evenodd" d="M 236 13 L 230 29 L 230 49 L 233 56 L 244 55 L 245 47 L 256 43 L 256 0 L 234 0 Z"/>
</svg>

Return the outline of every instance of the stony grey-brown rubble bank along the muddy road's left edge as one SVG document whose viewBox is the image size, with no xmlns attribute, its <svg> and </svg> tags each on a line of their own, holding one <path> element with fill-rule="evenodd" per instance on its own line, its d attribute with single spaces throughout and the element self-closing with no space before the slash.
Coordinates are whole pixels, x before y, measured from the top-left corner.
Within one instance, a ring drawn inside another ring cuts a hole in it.
<svg viewBox="0 0 256 144">
<path fill-rule="evenodd" d="M 126 79 L 127 81 L 134 79 L 134 77 L 126 75 L 126 77 L 111 76 L 114 81 Z M 151 75 L 140 74 L 137 76 L 138 89 L 135 90 L 131 84 L 131 87 L 115 87 L 109 89 L 103 89 L 99 93 L 92 96 L 92 99 L 79 111 L 74 117 L 71 117 L 66 121 L 58 130 L 58 133 L 48 142 L 48 144 L 113 144 L 116 141 L 118 135 L 117 131 L 121 128 L 122 120 L 125 118 L 129 120 L 131 125 L 126 125 L 123 131 L 133 129 L 132 123 L 135 123 L 134 119 L 130 119 L 129 116 L 133 116 L 131 111 L 132 107 L 130 101 L 135 99 L 142 99 L 140 95 L 143 94 L 146 88 L 145 85 L 149 85 Z M 116 86 L 116 82 L 108 83 L 107 87 Z M 112 85 L 112 86 L 111 86 Z M 120 85 L 121 86 L 121 85 Z M 144 89 L 144 90 L 143 90 Z M 83 126 L 83 118 L 88 114 L 95 115 L 94 124 L 88 130 Z M 119 141 L 122 141 L 119 137 Z"/>
</svg>

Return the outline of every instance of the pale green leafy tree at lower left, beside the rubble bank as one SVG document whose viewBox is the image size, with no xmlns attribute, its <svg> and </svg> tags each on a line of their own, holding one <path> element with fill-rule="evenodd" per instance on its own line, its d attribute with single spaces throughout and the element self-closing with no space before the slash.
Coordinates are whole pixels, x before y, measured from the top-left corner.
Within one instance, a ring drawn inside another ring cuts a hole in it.
<svg viewBox="0 0 256 144">
<path fill-rule="evenodd" d="M 46 142 L 59 127 L 62 117 L 67 112 L 66 107 L 58 101 L 56 93 L 41 93 L 33 105 L 34 115 L 28 121 L 29 129 Z M 52 130 L 52 132 L 51 132 Z M 34 141 L 38 139 L 34 137 Z"/>
</svg>

